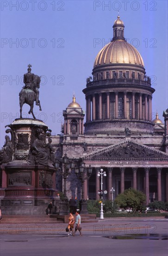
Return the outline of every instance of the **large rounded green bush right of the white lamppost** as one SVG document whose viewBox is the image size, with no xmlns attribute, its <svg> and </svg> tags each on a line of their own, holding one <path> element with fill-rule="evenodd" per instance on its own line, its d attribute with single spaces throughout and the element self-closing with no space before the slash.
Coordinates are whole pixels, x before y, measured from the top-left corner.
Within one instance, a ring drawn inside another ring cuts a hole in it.
<svg viewBox="0 0 168 256">
<path fill-rule="evenodd" d="M 119 194 L 115 202 L 118 204 L 120 208 L 124 208 L 125 210 L 130 210 L 135 212 L 141 212 L 145 210 L 146 207 L 144 206 L 146 200 L 146 196 L 136 189 L 126 189 L 124 193 Z"/>
</svg>

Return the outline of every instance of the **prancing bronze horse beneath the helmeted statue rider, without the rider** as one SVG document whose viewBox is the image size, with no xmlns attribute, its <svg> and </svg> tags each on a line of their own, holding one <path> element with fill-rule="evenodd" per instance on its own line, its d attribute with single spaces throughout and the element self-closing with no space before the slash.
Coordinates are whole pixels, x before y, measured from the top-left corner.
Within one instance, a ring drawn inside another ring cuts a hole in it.
<svg viewBox="0 0 168 256">
<path fill-rule="evenodd" d="M 33 81 L 33 88 L 40 88 L 40 76 L 37 74 L 34 76 L 34 81 Z M 28 104 L 31 108 L 29 110 L 29 114 L 32 114 L 33 118 L 36 119 L 34 113 L 33 113 L 33 107 L 34 107 L 34 101 L 36 101 L 37 94 L 33 90 L 33 88 L 23 88 L 20 93 L 19 93 L 19 105 L 20 105 L 20 118 L 22 118 L 22 107 L 23 104 Z M 38 100 L 38 105 L 41 109 L 40 101 Z"/>
</svg>

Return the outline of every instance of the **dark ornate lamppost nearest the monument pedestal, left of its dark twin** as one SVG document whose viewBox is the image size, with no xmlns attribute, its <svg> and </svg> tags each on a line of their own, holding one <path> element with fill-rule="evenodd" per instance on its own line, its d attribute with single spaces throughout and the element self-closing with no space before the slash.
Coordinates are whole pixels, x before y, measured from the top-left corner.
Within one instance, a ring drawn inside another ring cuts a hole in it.
<svg viewBox="0 0 168 256">
<path fill-rule="evenodd" d="M 60 164 L 64 164 L 64 168 L 59 168 Z M 62 175 L 64 180 L 63 199 L 61 200 L 60 215 L 67 215 L 69 213 L 69 202 L 67 198 L 67 177 L 71 174 L 71 170 L 75 168 L 75 161 L 70 160 L 67 154 L 59 160 L 55 160 L 55 168 L 58 174 Z"/>
</svg>

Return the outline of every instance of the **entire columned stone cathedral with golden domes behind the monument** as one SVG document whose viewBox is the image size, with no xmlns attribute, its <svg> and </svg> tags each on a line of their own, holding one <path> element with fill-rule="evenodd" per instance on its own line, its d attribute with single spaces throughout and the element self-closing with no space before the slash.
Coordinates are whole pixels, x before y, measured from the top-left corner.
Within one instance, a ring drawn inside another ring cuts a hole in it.
<svg viewBox="0 0 168 256">
<path fill-rule="evenodd" d="M 86 171 L 92 168 L 82 187 L 85 200 L 99 199 L 97 174 L 103 168 L 104 198 L 112 198 L 112 188 L 113 198 L 124 189 L 134 188 L 145 193 L 146 204 L 168 202 L 168 109 L 163 112 L 164 123 L 158 114 L 152 120 L 155 89 L 140 53 L 124 38 L 119 16 L 111 42 L 95 58 L 92 75 L 83 89 L 86 113 L 75 95 L 63 110 L 62 135 L 52 136 L 56 158 L 66 154 L 85 163 Z M 63 189 L 59 175 L 56 186 L 59 191 Z M 74 169 L 67 178 L 67 195 L 81 199 L 81 182 Z"/>
</svg>

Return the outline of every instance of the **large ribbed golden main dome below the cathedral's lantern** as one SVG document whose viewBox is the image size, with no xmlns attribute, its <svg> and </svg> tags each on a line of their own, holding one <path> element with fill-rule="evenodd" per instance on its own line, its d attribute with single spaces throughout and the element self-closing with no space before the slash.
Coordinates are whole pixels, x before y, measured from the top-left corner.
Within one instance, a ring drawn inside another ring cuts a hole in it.
<svg viewBox="0 0 168 256">
<path fill-rule="evenodd" d="M 112 40 L 97 54 L 94 67 L 106 64 L 126 63 L 144 67 L 143 58 L 135 47 L 125 40 Z"/>
</svg>

